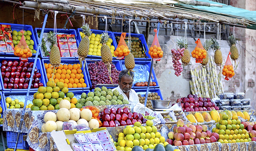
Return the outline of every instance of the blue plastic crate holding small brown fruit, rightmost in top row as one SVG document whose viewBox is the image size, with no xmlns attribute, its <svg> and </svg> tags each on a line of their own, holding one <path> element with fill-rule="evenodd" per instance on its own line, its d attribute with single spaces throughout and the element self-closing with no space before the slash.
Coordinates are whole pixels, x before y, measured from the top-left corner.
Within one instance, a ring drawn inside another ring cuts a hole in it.
<svg viewBox="0 0 256 151">
<path fill-rule="evenodd" d="M 122 33 L 113 32 L 113 34 L 116 37 L 116 36 L 121 36 Z M 126 37 L 128 37 L 128 33 L 126 34 Z M 131 37 L 138 37 L 139 38 L 139 40 L 141 41 L 142 47 L 144 47 L 142 49 L 144 49 L 145 54 L 147 56 L 147 58 L 134 58 L 134 60 L 151 60 L 151 56 L 148 54 L 149 49 L 148 49 L 147 42 L 146 42 L 146 39 L 145 39 L 144 35 L 143 34 L 132 34 L 131 33 Z M 114 40 L 117 43 L 117 40 L 116 39 L 114 39 Z M 117 43 L 117 45 L 118 45 L 118 43 Z"/>
</svg>

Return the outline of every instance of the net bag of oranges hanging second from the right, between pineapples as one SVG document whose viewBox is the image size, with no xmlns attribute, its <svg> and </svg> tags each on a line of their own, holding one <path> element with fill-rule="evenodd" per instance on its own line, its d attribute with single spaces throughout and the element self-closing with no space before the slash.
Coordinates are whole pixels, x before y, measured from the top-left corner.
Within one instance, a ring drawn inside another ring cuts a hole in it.
<svg viewBox="0 0 256 151">
<path fill-rule="evenodd" d="M 203 48 L 200 39 L 198 39 L 195 43 L 197 44 L 197 46 L 191 52 L 191 55 L 193 58 L 196 58 L 196 63 L 202 63 L 203 59 L 205 59 L 207 55 L 206 50 Z"/>
</svg>

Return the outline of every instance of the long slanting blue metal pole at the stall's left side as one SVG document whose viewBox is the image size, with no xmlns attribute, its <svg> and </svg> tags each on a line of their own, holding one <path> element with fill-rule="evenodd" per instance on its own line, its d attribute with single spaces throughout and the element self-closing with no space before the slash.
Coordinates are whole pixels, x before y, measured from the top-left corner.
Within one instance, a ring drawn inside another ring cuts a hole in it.
<svg viewBox="0 0 256 151">
<path fill-rule="evenodd" d="M 48 17 L 48 12 L 44 16 L 44 23 L 43 23 L 41 33 L 44 33 L 44 27 L 45 27 L 45 24 L 46 24 L 47 17 Z M 31 84 L 32 84 L 33 76 L 34 76 L 35 66 L 37 65 L 37 58 L 38 58 L 38 55 L 39 55 L 42 39 L 43 39 L 43 34 L 40 35 L 40 39 L 39 39 L 39 42 L 38 42 L 39 45 L 37 47 L 37 53 L 35 55 L 34 65 L 33 65 L 33 69 L 32 69 L 30 79 L 29 79 L 28 92 L 27 92 L 26 99 L 25 99 L 25 102 L 24 102 L 24 107 L 23 107 L 23 110 L 22 110 L 22 117 L 20 119 L 19 130 L 18 130 L 18 134 L 17 134 L 17 139 L 16 139 L 16 144 L 15 144 L 14 151 L 16 151 L 16 149 L 17 149 L 19 135 L 20 135 L 20 129 L 22 128 L 22 124 L 23 124 L 23 120 L 24 120 L 23 118 L 24 118 L 24 114 L 25 114 L 25 110 L 26 110 L 26 106 L 27 106 L 28 95 L 29 95 L 30 87 L 31 87 Z"/>
</svg>

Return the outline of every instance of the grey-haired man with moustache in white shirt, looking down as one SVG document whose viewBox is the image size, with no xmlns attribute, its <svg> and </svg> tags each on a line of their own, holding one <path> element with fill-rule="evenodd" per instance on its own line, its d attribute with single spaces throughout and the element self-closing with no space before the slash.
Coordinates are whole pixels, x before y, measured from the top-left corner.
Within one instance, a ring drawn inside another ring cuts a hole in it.
<svg viewBox="0 0 256 151">
<path fill-rule="evenodd" d="M 128 74 L 129 70 L 123 70 L 119 74 L 118 84 L 119 86 L 114 90 L 118 90 L 120 94 L 124 96 L 124 99 L 128 100 L 129 103 L 134 107 L 137 103 L 139 103 L 139 97 L 137 93 L 131 89 L 134 72 L 130 71 L 130 75 Z"/>
</svg>

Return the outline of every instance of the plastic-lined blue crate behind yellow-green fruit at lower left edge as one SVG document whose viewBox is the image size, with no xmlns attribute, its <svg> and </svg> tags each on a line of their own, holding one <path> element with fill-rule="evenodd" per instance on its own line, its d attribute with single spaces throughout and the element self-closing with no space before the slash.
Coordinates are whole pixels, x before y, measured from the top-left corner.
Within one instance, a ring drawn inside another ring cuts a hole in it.
<svg viewBox="0 0 256 151">
<path fill-rule="evenodd" d="M 28 101 L 27 101 L 27 105 L 29 103 L 33 104 L 32 100 L 34 99 L 34 93 L 36 93 L 37 91 L 29 91 L 29 96 L 28 96 Z M 7 109 L 6 107 L 6 102 L 5 102 L 5 98 L 6 97 L 10 97 L 12 100 L 14 99 L 17 99 L 17 95 L 19 96 L 18 97 L 18 100 L 20 102 L 25 102 L 25 99 L 26 99 L 26 95 L 27 95 L 27 91 L 3 91 L 3 100 L 4 100 L 4 107 L 5 109 Z"/>
</svg>

